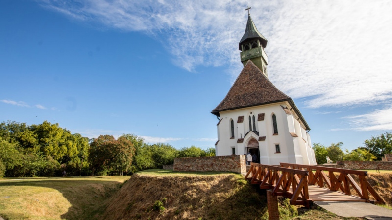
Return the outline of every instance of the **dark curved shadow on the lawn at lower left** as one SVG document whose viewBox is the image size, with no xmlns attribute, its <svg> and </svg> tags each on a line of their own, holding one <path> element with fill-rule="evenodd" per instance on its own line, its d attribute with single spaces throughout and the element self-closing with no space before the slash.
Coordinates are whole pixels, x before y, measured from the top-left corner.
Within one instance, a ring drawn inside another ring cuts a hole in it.
<svg viewBox="0 0 392 220">
<path fill-rule="evenodd" d="M 78 178 L 81 179 L 78 180 Z M 17 181 L 0 181 L 0 187 L 31 186 L 55 189 L 71 203 L 68 211 L 61 215 L 62 219 L 88 220 L 95 219 L 94 215 L 104 209 L 104 201 L 116 193 L 122 185 L 121 182 L 102 181 L 101 178 L 108 179 L 97 176 L 23 178 L 23 180 Z M 40 217 L 38 216 L 38 218 Z"/>
</svg>

